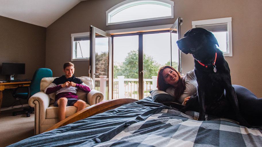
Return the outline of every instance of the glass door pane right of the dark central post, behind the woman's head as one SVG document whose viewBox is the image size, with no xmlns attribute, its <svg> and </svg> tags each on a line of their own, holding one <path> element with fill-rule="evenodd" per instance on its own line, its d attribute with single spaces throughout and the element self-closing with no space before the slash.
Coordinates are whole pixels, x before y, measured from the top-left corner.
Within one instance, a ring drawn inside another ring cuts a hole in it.
<svg viewBox="0 0 262 147">
<path fill-rule="evenodd" d="M 171 62 L 170 33 L 143 35 L 144 97 L 149 91 L 157 89 L 157 73 L 160 67 Z"/>
</svg>

